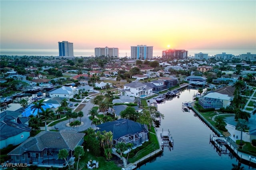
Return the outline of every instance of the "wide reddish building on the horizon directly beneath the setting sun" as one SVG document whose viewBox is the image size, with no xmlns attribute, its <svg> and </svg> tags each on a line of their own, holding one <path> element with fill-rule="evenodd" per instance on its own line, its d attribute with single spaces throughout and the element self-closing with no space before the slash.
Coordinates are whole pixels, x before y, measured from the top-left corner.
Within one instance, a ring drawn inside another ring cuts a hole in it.
<svg viewBox="0 0 256 170">
<path fill-rule="evenodd" d="M 172 60 L 188 59 L 188 51 L 168 49 L 168 50 L 162 51 L 162 57 L 165 59 L 172 59 Z"/>
</svg>

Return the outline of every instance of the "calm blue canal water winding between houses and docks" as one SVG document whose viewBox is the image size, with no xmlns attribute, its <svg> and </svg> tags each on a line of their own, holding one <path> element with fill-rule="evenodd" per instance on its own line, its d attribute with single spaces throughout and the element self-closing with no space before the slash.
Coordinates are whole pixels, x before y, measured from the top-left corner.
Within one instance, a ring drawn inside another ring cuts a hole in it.
<svg viewBox="0 0 256 170">
<path fill-rule="evenodd" d="M 158 133 L 171 132 L 174 148 L 164 148 L 162 156 L 140 167 L 141 170 L 231 170 L 232 164 L 238 165 L 235 157 L 219 154 L 209 143 L 213 132 L 194 113 L 182 111 L 182 102 L 192 101 L 198 90 L 184 89 L 179 96 L 158 104 L 164 114 Z M 242 164 L 244 170 L 249 166 Z M 256 168 L 250 167 L 255 170 Z"/>
</svg>

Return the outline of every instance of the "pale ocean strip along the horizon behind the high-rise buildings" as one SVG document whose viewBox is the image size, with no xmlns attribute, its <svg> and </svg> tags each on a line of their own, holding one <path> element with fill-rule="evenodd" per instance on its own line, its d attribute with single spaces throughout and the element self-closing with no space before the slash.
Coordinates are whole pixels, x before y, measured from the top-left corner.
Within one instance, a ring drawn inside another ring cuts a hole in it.
<svg viewBox="0 0 256 170">
<path fill-rule="evenodd" d="M 166 49 L 165 49 L 166 50 Z M 186 49 L 188 56 L 194 56 L 196 53 L 206 53 L 208 56 L 216 54 L 232 54 L 238 56 L 240 54 L 256 54 L 256 49 Z M 153 49 L 153 57 L 162 56 L 162 51 Z M 0 49 L 0 55 L 7 56 L 58 56 L 58 49 Z M 94 49 L 74 49 L 75 57 L 91 57 L 94 56 Z M 130 57 L 130 49 L 119 49 L 119 57 Z"/>
</svg>

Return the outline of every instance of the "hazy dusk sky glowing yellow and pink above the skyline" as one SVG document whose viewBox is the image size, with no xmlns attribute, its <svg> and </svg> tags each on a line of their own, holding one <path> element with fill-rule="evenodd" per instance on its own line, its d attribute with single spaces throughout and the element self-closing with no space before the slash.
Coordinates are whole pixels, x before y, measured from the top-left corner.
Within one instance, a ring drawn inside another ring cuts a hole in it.
<svg viewBox="0 0 256 170">
<path fill-rule="evenodd" d="M 0 0 L 1 49 L 256 49 L 256 1 Z"/>
</svg>

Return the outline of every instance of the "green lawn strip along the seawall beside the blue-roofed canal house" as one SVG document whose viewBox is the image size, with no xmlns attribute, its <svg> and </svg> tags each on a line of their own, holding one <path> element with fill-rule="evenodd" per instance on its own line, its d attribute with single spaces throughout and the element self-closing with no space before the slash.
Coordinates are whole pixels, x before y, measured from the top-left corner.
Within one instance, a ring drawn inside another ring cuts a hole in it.
<svg viewBox="0 0 256 170">
<path fill-rule="evenodd" d="M 154 128 L 151 128 L 151 130 L 152 130 L 152 133 L 156 133 Z M 158 140 L 157 140 L 157 136 L 152 133 L 149 133 L 150 141 L 152 141 L 152 143 L 150 143 L 144 149 L 139 150 L 132 158 L 128 158 L 128 162 L 135 162 L 135 161 L 143 158 L 147 154 L 150 154 L 151 152 L 154 152 L 155 150 L 160 148 Z"/>
</svg>

